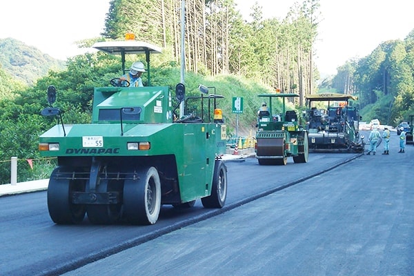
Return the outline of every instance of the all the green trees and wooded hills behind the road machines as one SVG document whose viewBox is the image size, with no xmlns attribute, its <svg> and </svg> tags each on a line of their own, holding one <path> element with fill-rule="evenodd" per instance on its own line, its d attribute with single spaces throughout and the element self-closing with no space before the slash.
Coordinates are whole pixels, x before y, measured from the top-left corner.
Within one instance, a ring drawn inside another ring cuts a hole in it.
<svg viewBox="0 0 414 276">
<path fill-rule="evenodd" d="M 126 32 L 133 32 L 137 40 L 163 48 L 152 59 L 151 84 L 173 90 L 180 81 L 180 5 L 179 0 L 113 0 L 101 36 L 77 41 L 78 46 L 124 39 Z M 256 3 L 250 21 L 242 19 L 233 0 L 187 0 L 185 16 L 186 92 L 195 95 L 202 83 L 225 96 L 219 104 L 229 137 L 236 126 L 232 97 L 244 97 L 239 135 L 248 135 L 255 131 L 257 95 L 275 89 L 297 93 L 300 97 L 290 103 L 297 109 L 304 108 L 306 95 L 328 91 L 357 95 L 364 121 L 378 118 L 397 125 L 414 114 L 414 32 L 404 41 L 386 41 L 371 55 L 347 61 L 337 75 L 322 80 L 313 61 L 322 17 L 319 0 L 295 3 L 282 20 L 264 19 Z M 57 88 L 55 106 L 64 110 L 65 124 L 87 124 L 93 89 L 109 86 L 110 79 L 122 75 L 120 57 L 93 52 L 62 64 L 19 41 L 0 40 L 0 47 L 0 184 L 10 183 L 12 156 L 19 160 L 18 181 L 48 178 L 54 160 L 41 159 L 37 150 L 39 135 L 57 123 L 40 115 L 48 105 L 46 89 Z M 145 62 L 144 57 L 127 57 L 127 66 L 136 60 Z M 22 76 L 28 64 L 48 71 Z M 143 79 L 145 84 L 145 74 Z"/>
</svg>

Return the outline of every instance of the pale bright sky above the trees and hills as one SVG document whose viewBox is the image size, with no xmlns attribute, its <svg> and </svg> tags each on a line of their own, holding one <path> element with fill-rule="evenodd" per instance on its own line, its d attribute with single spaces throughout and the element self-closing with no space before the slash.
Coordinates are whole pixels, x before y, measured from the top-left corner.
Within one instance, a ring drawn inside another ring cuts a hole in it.
<svg viewBox="0 0 414 276">
<path fill-rule="evenodd" d="M 284 19 L 295 2 L 257 0 L 265 18 Z M 0 3 L 0 39 L 12 37 L 65 60 L 81 50 L 75 41 L 99 37 L 110 0 L 14 0 Z M 255 1 L 235 0 L 248 20 Z M 369 55 L 380 43 L 403 40 L 414 29 L 414 1 L 319 0 L 321 21 L 315 63 L 321 75 L 335 75 L 353 58 Z"/>
</svg>

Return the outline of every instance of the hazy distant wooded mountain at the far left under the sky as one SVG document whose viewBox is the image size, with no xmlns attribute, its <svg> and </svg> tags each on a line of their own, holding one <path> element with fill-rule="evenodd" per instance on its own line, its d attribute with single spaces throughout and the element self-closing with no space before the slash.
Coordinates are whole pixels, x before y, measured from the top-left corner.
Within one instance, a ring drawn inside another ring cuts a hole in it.
<svg viewBox="0 0 414 276">
<path fill-rule="evenodd" d="M 49 70 L 64 70 L 65 61 L 43 54 L 39 49 L 12 38 L 0 39 L 0 68 L 31 86 Z"/>
</svg>

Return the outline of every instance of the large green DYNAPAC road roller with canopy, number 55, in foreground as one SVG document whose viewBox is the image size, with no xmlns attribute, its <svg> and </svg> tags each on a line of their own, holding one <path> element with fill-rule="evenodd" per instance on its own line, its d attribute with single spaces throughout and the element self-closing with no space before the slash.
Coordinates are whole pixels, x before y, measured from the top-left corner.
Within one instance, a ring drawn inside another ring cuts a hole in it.
<svg viewBox="0 0 414 276">
<path fill-rule="evenodd" d="M 161 52 L 135 40 L 92 47 L 121 55 L 123 70 L 126 54 L 146 55 L 148 83 L 150 54 Z M 222 96 L 200 86 L 200 96 L 190 99 L 197 108 L 187 110 L 183 83 L 175 90 L 129 87 L 119 79 L 110 83 L 94 90 L 90 124 L 65 124 L 63 110 L 52 106 L 56 88 L 48 88 L 49 106 L 41 114 L 57 117 L 58 123 L 39 137 L 39 150 L 43 157 L 57 157 L 48 184 L 52 221 L 79 224 L 87 216 L 92 224 L 149 225 L 157 222 L 163 205 L 192 207 L 201 199 L 205 208 L 223 207 L 226 125 L 216 105 Z"/>
</svg>

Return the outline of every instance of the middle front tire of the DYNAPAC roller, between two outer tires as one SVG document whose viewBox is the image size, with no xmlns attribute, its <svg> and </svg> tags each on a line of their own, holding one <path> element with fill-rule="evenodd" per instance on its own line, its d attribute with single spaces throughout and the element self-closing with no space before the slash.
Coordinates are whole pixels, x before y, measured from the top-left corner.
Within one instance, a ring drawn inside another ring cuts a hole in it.
<svg viewBox="0 0 414 276">
<path fill-rule="evenodd" d="M 119 180 L 103 179 L 97 186 L 97 193 L 122 193 L 122 183 Z M 88 219 L 92 224 L 113 224 L 121 217 L 121 201 L 117 204 L 90 204 L 86 206 Z"/>
</svg>

